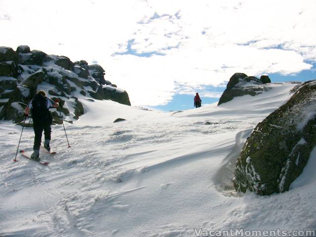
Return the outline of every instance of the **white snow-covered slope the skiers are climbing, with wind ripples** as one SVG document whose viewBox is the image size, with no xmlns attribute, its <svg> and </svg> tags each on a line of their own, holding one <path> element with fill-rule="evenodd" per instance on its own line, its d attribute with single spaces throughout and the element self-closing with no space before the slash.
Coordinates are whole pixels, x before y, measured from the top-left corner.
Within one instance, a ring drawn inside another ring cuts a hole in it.
<svg viewBox="0 0 316 237">
<path fill-rule="evenodd" d="M 316 150 L 289 192 L 237 194 L 232 172 L 251 130 L 291 83 L 179 113 L 81 98 L 86 113 L 53 126 L 57 154 L 15 157 L 21 127 L 0 124 L 0 236 L 193 237 L 205 231 L 316 228 Z M 80 97 L 80 95 L 78 95 Z M 116 118 L 126 121 L 113 123 Z M 205 124 L 206 123 L 206 124 Z M 20 147 L 31 152 L 33 130 Z M 196 229 L 196 231 L 194 230 Z M 202 230 L 201 230 L 202 229 Z"/>
</svg>

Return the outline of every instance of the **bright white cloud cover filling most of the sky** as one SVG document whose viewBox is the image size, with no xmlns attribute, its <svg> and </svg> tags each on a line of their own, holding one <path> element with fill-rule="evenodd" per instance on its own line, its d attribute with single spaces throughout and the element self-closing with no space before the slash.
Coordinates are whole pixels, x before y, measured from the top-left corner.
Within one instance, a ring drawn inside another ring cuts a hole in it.
<svg viewBox="0 0 316 237">
<path fill-rule="evenodd" d="M 9 17 L 0 44 L 97 61 L 133 105 L 316 62 L 315 0 L 0 0 L 0 9 Z"/>
</svg>

